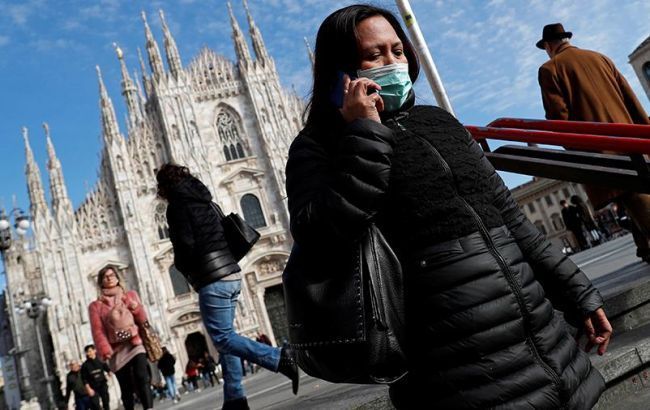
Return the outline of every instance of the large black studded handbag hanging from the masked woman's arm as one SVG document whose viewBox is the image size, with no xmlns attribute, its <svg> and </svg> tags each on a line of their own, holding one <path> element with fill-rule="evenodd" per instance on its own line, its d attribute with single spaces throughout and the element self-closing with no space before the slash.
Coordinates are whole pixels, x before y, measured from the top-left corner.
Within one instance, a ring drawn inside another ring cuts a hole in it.
<svg viewBox="0 0 650 410">
<path fill-rule="evenodd" d="M 390 384 L 406 375 L 402 269 L 375 225 L 352 248 L 294 244 L 282 280 L 303 371 L 333 383 Z"/>
</svg>

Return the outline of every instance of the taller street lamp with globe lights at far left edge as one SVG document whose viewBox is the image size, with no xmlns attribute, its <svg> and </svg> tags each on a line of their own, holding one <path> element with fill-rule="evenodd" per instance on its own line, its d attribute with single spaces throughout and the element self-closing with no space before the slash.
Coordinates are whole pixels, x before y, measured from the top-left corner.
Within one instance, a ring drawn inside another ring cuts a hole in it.
<svg viewBox="0 0 650 410">
<path fill-rule="evenodd" d="M 29 371 L 27 370 L 27 366 L 25 365 L 25 360 L 23 357 L 23 354 L 26 352 L 26 350 L 22 349 L 19 334 L 20 329 L 18 326 L 16 326 L 16 317 L 14 316 L 16 307 L 14 305 L 13 290 L 10 286 L 9 275 L 6 274 L 6 252 L 11 249 L 13 243 L 13 232 L 11 229 L 12 217 L 14 220 L 15 233 L 19 236 L 23 236 L 27 233 L 27 230 L 30 227 L 30 222 L 29 216 L 27 216 L 25 212 L 23 212 L 23 210 L 20 208 L 14 207 L 9 212 L 9 214 L 5 213 L 4 209 L 0 209 L 0 257 L 2 259 L 2 265 L 5 271 L 5 280 L 7 286 L 6 295 L 8 299 L 7 301 L 9 302 L 8 313 L 11 316 L 9 322 L 11 324 L 11 334 L 14 343 L 14 348 L 12 350 L 14 351 L 13 355 L 17 356 L 18 359 L 17 368 L 19 371 L 21 399 L 29 401 L 32 397 L 34 397 L 34 392 L 32 391 L 31 384 L 29 382 Z"/>
</svg>

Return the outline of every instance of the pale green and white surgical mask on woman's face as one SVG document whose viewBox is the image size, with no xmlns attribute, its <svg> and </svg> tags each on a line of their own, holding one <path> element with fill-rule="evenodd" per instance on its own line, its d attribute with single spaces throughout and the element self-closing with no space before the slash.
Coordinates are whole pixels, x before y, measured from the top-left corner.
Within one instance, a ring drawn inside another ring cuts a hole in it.
<svg viewBox="0 0 650 410">
<path fill-rule="evenodd" d="M 381 86 L 379 95 L 384 100 L 386 111 L 396 111 L 404 105 L 413 83 L 406 63 L 395 63 L 381 67 L 357 70 L 359 77 L 373 80 Z"/>
</svg>

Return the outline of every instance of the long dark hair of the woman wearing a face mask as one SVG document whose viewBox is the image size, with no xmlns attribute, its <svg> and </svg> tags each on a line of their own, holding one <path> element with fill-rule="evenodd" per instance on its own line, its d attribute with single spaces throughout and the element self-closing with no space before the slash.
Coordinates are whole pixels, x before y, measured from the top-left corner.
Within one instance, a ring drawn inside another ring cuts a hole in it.
<svg viewBox="0 0 650 410">
<path fill-rule="evenodd" d="M 306 109 L 307 126 L 329 122 L 336 115 L 336 107 L 330 97 L 338 80 L 337 73 L 356 72 L 359 68 L 361 58 L 357 46 L 357 25 L 374 16 L 382 16 L 393 26 L 404 45 L 411 81 L 417 80 L 420 73 L 417 54 L 393 13 L 366 4 L 339 9 L 323 21 L 316 35 L 314 86 Z"/>
</svg>

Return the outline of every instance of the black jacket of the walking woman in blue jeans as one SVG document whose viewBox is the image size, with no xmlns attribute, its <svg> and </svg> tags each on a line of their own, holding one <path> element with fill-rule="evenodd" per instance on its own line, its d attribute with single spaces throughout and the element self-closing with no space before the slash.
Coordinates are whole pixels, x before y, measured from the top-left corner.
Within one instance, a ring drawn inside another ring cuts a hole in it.
<svg viewBox="0 0 650 410">
<path fill-rule="evenodd" d="M 239 272 L 208 188 L 190 176 L 172 188 L 168 199 L 174 264 L 194 290 Z"/>
</svg>

